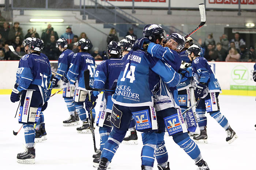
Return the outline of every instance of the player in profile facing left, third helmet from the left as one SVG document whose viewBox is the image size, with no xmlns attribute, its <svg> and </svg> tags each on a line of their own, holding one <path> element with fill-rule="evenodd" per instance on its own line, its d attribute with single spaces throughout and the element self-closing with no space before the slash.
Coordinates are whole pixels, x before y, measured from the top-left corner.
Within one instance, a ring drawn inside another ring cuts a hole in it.
<svg viewBox="0 0 256 170">
<path fill-rule="evenodd" d="M 58 69 L 57 74 L 53 78 L 52 87 L 58 87 L 58 81 L 61 79 L 65 72 L 68 72 L 69 67 L 71 66 L 71 60 L 73 59 L 74 52 L 68 49 L 68 41 L 65 38 L 60 38 L 56 42 L 56 48 L 58 48 L 62 53 L 58 59 Z M 75 112 L 75 104 L 73 96 L 75 93 L 74 83 L 68 81 L 68 83 L 63 82 L 63 98 L 67 104 L 69 111 L 69 118 L 63 121 L 63 126 L 76 126 L 79 124 L 79 116 Z"/>
</svg>

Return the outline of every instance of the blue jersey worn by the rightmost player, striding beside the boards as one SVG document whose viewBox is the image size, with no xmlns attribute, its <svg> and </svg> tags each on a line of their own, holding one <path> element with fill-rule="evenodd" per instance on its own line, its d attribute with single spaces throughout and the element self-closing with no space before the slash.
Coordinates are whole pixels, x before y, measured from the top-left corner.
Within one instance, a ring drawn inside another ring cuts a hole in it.
<svg viewBox="0 0 256 170">
<path fill-rule="evenodd" d="M 192 62 L 193 77 L 196 83 L 206 83 L 209 92 L 220 92 L 221 86 L 208 61 L 203 57 L 197 57 Z"/>
</svg>

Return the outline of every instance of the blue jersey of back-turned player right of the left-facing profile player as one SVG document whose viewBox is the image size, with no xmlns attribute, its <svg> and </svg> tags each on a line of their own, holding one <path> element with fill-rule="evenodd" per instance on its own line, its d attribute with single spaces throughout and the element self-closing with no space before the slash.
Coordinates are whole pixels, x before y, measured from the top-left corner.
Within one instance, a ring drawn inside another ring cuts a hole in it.
<svg viewBox="0 0 256 170">
<path fill-rule="evenodd" d="M 73 55 L 67 73 L 69 81 L 75 83 L 77 89 L 86 90 L 84 85 L 84 70 L 90 70 L 90 86 L 93 87 L 95 61 L 88 52 L 78 52 Z"/>
</svg>

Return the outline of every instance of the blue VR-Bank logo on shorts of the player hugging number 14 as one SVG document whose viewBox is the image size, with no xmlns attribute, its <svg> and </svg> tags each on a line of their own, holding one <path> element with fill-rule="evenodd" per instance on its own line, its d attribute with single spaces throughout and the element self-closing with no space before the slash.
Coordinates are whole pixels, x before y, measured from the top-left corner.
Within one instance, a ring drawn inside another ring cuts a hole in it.
<svg viewBox="0 0 256 170">
<path fill-rule="evenodd" d="M 172 116 L 168 116 L 163 119 L 165 120 L 165 126 L 167 128 L 169 135 L 173 135 L 173 134 L 183 131 L 182 127 L 181 127 L 180 120 L 178 118 L 178 114 L 174 114 Z"/>
</svg>

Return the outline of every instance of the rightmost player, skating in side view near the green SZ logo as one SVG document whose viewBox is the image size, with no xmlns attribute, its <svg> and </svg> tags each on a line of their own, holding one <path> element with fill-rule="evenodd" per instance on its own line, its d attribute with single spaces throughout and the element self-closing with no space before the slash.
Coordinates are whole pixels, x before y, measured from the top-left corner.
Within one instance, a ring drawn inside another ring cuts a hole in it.
<svg viewBox="0 0 256 170">
<path fill-rule="evenodd" d="M 237 139 L 237 135 L 231 129 L 225 116 L 219 111 L 218 95 L 221 93 L 221 87 L 207 60 L 200 57 L 200 52 L 201 49 L 196 44 L 188 48 L 188 57 L 192 61 L 193 77 L 196 82 L 195 98 L 200 99 L 196 107 L 196 112 L 199 115 L 200 134 L 194 136 L 193 139 L 197 142 L 207 143 L 207 118 L 204 115 L 207 111 L 226 130 L 226 141 L 230 144 Z"/>
</svg>

